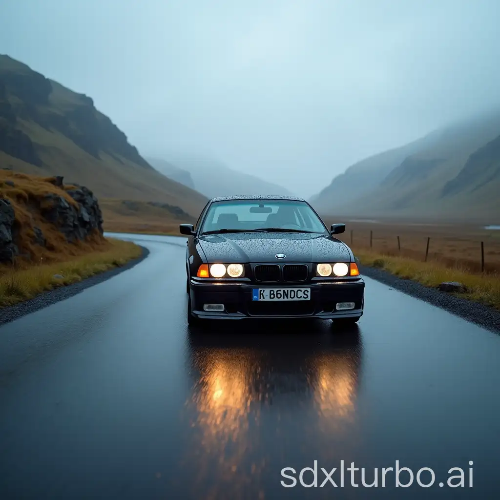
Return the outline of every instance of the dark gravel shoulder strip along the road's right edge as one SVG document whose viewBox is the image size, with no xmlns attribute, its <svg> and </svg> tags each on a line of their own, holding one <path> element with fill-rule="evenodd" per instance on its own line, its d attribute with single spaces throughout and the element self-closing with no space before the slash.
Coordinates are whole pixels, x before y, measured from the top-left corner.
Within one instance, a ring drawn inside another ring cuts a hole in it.
<svg viewBox="0 0 500 500">
<path fill-rule="evenodd" d="M 387 284 L 395 290 L 424 300 L 490 331 L 500 333 L 500 311 L 491 306 L 424 286 L 411 279 L 401 279 L 384 269 L 359 265 L 359 270 L 361 274 Z"/>
</svg>

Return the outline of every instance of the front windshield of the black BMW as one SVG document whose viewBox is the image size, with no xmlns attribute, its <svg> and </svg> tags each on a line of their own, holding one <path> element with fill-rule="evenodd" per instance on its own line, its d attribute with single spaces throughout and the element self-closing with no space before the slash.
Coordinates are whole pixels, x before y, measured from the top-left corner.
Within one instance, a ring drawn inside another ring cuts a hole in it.
<svg viewBox="0 0 500 500">
<path fill-rule="evenodd" d="M 200 233 L 272 230 L 328 233 L 305 201 L 281 199 L 214 201 L 203 219 Z"/>
</svg>

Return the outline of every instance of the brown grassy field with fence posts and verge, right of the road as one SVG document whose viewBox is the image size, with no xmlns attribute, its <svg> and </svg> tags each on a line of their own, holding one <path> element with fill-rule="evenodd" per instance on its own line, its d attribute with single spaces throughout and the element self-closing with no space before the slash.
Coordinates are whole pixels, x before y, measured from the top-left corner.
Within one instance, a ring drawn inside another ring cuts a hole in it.
<svg viewBox="0 0 500 500">
<path fill-rule="evenodd" d="M 352 247 L 361 264 L 429 287 L 457 281 L 466 288 L 458 296 L 500 309 L 500 231 L 479 224 L 345 222 L 339 239 Z"/>
</svg>

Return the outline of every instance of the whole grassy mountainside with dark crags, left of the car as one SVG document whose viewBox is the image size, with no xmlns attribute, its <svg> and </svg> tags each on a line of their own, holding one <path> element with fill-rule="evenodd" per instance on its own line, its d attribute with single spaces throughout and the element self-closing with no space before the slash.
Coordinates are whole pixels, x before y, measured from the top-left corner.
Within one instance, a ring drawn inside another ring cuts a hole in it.
<svg viewBox="0 0 500 500">
<path fill-rule="evenodd" d="M 90 97 L 0 55 L 0 167 L 63 175 L 100 197 L 158 201 L 197 215 L 206 199 L 160 174 Z"/>
</svg>

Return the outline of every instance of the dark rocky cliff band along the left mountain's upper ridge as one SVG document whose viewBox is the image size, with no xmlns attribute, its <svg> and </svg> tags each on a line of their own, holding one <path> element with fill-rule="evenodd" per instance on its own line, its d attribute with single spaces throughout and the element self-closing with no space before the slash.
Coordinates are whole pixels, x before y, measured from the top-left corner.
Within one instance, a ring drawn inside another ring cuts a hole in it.
<svg viewBox="0 0 500 500">
<path fill-rule="evenodd" d="M 2 62 L 5 58 L 2 56 Z M 6 68 L 0 65 L 0 150 L 41 166 L 35 145 L 21 130 L 23 121 L 60 132 L 94 158 L 107 153 L 151 168 L 126 135 L 95 109 L 90 97 L 71 92 L 10 59 Z"/>
</svg>

